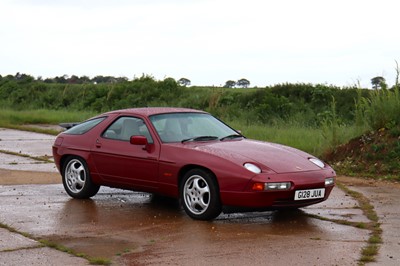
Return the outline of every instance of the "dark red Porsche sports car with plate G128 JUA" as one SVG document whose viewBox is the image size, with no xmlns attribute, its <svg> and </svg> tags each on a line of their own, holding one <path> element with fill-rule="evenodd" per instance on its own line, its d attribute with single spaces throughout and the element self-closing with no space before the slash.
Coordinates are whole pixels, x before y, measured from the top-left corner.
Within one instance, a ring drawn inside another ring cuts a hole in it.
<svg viewBox="0 0 400 266">
<path fill-rule="evenodd" d="M 300 150 L 250 140 L 209 113 L 136 108 L 98 115 L 60 133 L 53 155 L 66 192 L 100 186 L 179 198 L 194 219 L 223 206 L 299 208 L 328 198 L 334 170 Z"/>
</svg>

